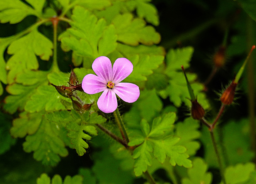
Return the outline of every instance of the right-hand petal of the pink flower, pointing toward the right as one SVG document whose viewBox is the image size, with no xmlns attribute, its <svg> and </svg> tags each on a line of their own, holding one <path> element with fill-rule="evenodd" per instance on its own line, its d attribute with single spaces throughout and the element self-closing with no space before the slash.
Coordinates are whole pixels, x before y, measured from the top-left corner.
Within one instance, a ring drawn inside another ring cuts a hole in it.
<svg viewBox="0 0 256 184">
<path fill-rule="evenodd" d="M 128 103 L 135 102 L 140 96 L 140 89 L 132 83 L 118 83 L 112 89 L 123 101 Z"/>
</svg>

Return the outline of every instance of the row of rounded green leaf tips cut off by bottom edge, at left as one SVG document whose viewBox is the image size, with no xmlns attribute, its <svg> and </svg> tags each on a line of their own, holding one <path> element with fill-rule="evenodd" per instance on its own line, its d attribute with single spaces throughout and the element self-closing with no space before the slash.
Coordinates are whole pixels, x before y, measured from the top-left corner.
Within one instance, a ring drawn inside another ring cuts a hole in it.
<svg viewBox="0 0 256 184">
<path fill-rule="evenodd" d="M 50 177 L 43 173 L 39 178 L 36 180 L 36 184 L 82 184 L 83 178 L 80 175 L 75 175 L 73 177 L 66 176 L 64 181 L 62 182 L 62 178 L 60 175 L 55 174 L 52 178 L 52 182 Z"/>
</svg>

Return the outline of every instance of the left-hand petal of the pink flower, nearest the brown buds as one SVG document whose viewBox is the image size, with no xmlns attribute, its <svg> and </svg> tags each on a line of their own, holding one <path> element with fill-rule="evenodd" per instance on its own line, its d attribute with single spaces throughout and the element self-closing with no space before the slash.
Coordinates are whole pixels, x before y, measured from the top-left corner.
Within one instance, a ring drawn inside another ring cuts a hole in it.
<svg viewBox="0 0 256 184">
<path fill-rule="evenodd" d="M 82 81 L 82 89 L 88 94 L 95 94 L 104 91 L 107 86 L 102 80 L 102 78 L 94 74 L 85 75 Z"/>
</svg>

